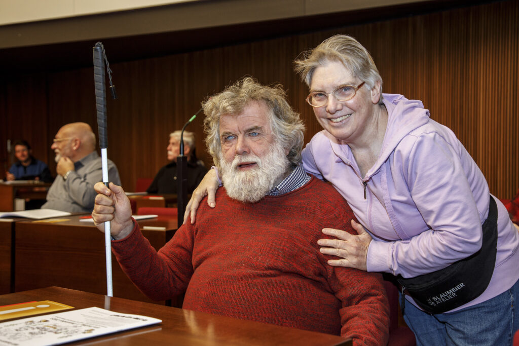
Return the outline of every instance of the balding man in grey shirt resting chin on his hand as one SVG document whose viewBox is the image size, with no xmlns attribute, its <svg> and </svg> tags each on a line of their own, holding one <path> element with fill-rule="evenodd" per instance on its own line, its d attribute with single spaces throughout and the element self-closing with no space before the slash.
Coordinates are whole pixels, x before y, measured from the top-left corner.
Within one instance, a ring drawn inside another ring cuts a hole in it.
<svg viewBox="0 0 519 346">
<path fill-rule="evenodd" d="M 97 193 L 94 184 L 103 181 L 101 157 L 95 151 L 95 134 L 85 122 L 61 127 L 50 147 L 56 153 L 56 179 L 42 208 L 71 213 L 90 213 Z M 120 185 L 119 172 L 108 160 L 108 179 Z"/>
</svg>

